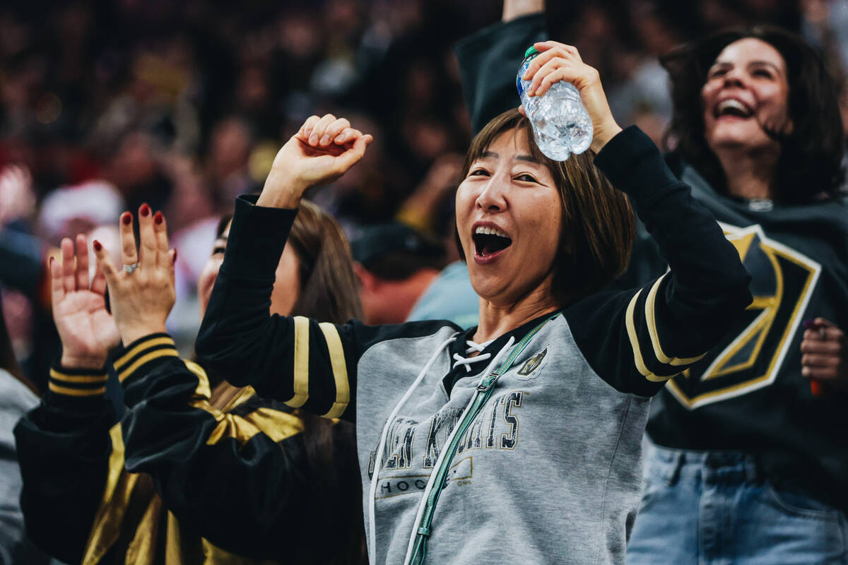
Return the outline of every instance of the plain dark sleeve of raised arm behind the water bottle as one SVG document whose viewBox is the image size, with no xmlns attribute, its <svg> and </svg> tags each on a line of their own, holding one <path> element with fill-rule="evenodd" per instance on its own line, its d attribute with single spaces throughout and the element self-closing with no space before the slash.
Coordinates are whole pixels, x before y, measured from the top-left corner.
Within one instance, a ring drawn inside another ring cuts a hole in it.
<svg viewBox="0 0 848 565">
<path fill-rule="evenodd" d="M 530 14 L 489 25 L 455 45 L 462 91 L 475 134 L 490 119 L 518 107 L 521 100 L 516 75 L 524 52 L 534 42 L 547 40 L 544 14 Z"/>
</svg>

